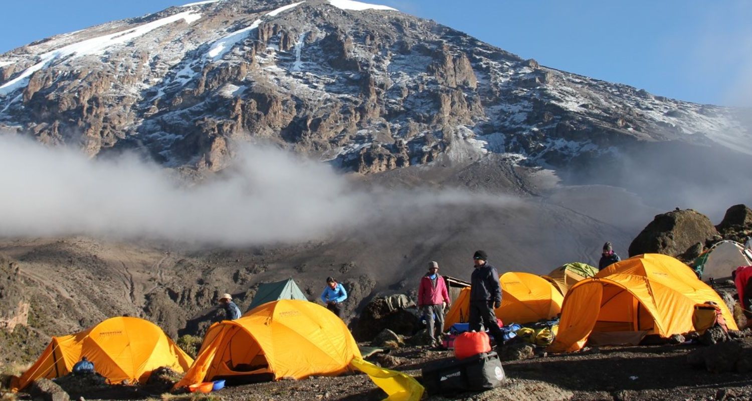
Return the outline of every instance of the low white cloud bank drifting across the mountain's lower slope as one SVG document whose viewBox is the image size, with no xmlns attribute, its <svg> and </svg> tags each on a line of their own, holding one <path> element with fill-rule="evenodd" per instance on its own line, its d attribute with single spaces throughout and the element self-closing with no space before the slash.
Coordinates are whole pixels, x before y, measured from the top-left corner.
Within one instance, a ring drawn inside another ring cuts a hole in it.
<svg viewBox="0 0 752 401">
<path fill-rule="evenodd" d="M 226 172 L 186 186 L 135 156 L 89 159 L 0 135 L 0 235 L 256 245 L 320 239 L 377 220 L 406 223 L 446 205 L 514 203 L 453 190 L 365 189 L 275 147 L 245 144 L 237 155 Z"/>
</svg>

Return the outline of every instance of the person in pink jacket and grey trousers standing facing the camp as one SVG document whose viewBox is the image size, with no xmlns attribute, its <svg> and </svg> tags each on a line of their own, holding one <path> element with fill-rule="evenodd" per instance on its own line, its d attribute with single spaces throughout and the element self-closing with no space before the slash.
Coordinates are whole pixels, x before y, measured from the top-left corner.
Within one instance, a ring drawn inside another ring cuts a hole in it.
<svg viewBox="0 0 752 401">
<path fill-rule="evenodd" d="M 418 308 L 426 315 L 428 333 L 431 342 L 436 345 L 441 345 L 441 333 L 444 333 L 444 307 L 448 307 L 450 302 L 447 283 L 438 275 L 438 263 L 429 263 L 428 273 L 420 279 L 418 287 Z"/>
</svg>

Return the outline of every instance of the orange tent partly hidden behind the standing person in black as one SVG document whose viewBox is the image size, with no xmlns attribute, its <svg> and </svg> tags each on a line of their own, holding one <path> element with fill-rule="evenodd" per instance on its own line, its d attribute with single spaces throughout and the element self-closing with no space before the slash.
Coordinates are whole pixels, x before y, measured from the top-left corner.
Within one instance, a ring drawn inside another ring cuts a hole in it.
<svg viewBox="0 0 752 401">
<path fill-rule="evenodd" d="M 496 317 L 505 324 L 530 323 L 556 317 L 561 310 L 563 296 L 552 284 L 538 275 L 507 272 L 499 278 L 502 286 L 502 305 Z M 470 287 L 462 289 L 447 312 L 444 327 L 468 321 Z"/>
</svg>

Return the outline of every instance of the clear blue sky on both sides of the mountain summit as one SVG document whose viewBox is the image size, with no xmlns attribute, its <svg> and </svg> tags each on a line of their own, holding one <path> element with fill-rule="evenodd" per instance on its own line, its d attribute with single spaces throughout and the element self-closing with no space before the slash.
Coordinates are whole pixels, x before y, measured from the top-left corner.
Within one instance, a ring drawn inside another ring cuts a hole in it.
<svg viewBox="0 0 752 401">
<path fill-rule="evenodd" d="M 190 1 L 7 2 L 4 14 L 17 18 L 0 24 L 0 53 Z M 752 106 L 752 2 L 745 0 L 372 2 L 436 20 L 552 68 L 691 102 Z"/>
</svg>

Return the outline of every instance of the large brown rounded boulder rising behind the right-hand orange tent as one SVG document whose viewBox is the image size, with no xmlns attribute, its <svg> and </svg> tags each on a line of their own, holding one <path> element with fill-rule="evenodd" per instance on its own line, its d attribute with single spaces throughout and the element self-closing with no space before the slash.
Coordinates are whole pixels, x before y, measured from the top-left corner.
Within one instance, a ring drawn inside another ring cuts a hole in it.
<svg viewBox="0 0 752 401">
<path fill-rule="evenodd" d="M 705 244 L 718 235 L 705 214 L 692 209 L 658 214 L 629 245 L 629 257 L 639 254 L 664 254 L 678 257 L 698 242 Z"/>
</svg>

